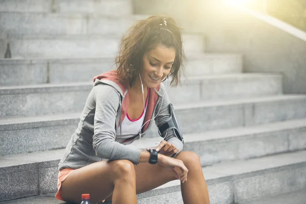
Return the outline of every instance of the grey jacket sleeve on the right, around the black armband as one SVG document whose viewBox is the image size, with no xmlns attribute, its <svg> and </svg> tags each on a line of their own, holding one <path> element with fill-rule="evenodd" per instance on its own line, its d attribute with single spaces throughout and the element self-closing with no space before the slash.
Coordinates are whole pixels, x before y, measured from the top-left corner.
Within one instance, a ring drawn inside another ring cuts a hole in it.
<svg viewBox="0 0 306 204">
<path fill-rule="evenodd" d="M 163 85 L 161 85 L 163 86 Z M 157 117 L 155 118 L 155 122 L 157 127 L 159 128 L 161 125 L 163 125 L 168 120 L 171 120 L 170 112 L 169 112 L 169 105 L 170 100 L 167 95 L 167 92 L 164 94 L 164 98 L 160 100 L 160 104 L 157 106 L 157 109 L 155 110 L 155 115 Z M 159 111 L 160 110 L 160 111 Z M 166 135 L 167 134 L 167 135 Z M 166 137 L 165 137 L 166 136 Z M 175 136 L 174 130 L 169 130 L 166 133 L 162 135 L 162 137 L 165 137 L 165 140 L 171 144 L 173 144 L 176 148 L 179 149 L 176 154 L 172 155 L 171 157 L 175 157 L 177 154 L 179 154 L 183 150 L 183 142 Z"/>
</svg>

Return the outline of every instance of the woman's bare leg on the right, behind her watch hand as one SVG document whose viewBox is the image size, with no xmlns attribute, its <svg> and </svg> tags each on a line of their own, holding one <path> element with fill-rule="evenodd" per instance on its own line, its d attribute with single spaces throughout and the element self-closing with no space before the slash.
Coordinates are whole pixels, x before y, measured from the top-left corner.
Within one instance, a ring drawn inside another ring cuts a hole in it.
<svg viewBox="0 0 306 204">
<path fill-rule="evenodd" d="M 199 157 L 192 151 L 182 151 L 175 159 L 182 160 L 188 168 L 187 182 L 181 183 L 185 204 L 209 204 L 209 195 Z M 180 169 L 176 169 L 181 172 Z M 140 163 L 135 166 L 137 194 L 149 191 L 170 181 L 176 180 L 174 173 L 159 164 Z M 107 198 L 111 200 L 112 195 Z M 114 199 L 114 196 L 113 196 Z"/>
</svg>

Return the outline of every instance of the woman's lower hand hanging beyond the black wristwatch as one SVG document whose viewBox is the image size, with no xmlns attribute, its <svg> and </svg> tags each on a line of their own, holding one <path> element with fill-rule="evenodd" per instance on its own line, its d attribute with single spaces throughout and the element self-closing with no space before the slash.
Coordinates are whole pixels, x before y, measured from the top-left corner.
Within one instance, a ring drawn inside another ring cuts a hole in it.
<svg viewBox="0 0 306 204">
<path fill-rule="evenodd" d="M 178 160 L 178 159 L 174 159 L 174 158 L 162 155 L 162 154 L 158 154 L 157 163 L 164 166 L 171 172 L 175 173 L 176 179 L 181 180 L 182 183 L 187 181 L 188 169 L 186 168 L 182 160 Z M 182 173 L 177 172 L 175 167 L 179 168 L 182 171 Z"/>
</svg>

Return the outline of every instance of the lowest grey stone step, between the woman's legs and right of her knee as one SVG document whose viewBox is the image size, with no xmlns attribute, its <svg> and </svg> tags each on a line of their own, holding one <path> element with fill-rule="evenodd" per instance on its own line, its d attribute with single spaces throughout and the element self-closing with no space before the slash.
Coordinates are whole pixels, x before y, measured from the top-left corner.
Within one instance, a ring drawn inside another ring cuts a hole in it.
<svg viewBox="0 0 306 204">
<path fill-rule="evenodd" d="M 306 188 L 306 151 L 215 164 L 203 168 L 210 202 L 233 203 Z M 140 204 L 183 204 L 179 181 L 138 195 Z"/>
</svg>

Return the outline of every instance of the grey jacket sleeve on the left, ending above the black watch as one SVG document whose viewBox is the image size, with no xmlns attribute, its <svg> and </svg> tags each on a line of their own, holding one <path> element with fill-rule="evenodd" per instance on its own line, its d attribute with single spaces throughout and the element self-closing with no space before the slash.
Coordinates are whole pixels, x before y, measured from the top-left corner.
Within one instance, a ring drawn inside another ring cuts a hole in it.
<svg viewBox="0 0 306 204">
<path fill-rule="evenodd" d="M 93 87 L 95 94 L 95 115 L 93 149 L 96 156 L 110 161 L 126 159 L 139 164 L 142 150 L 132 149 L 115 141 L 116 116 L 120 95 L 115 88 L 99 84 Z"/>
</svg>

